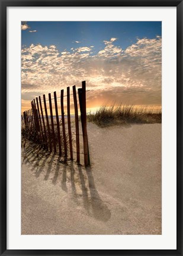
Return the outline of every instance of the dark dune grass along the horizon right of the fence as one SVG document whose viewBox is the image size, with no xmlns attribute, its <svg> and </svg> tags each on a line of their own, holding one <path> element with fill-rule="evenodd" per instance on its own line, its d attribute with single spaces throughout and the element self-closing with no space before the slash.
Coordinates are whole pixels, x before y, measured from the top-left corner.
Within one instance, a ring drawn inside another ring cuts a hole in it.
<svg viewBox="0 0 183 256">
<path fill-rule="evenodd" d="M 136 107 L 133 105 L 102 105 L 95 113 L 87 115 L 87 121 L 106 127 L 128 123 L 161 123 L 162 112 L 156 108 Z"/>
</svg>

